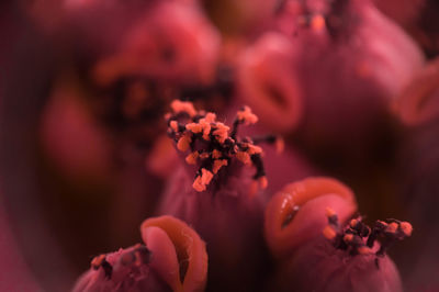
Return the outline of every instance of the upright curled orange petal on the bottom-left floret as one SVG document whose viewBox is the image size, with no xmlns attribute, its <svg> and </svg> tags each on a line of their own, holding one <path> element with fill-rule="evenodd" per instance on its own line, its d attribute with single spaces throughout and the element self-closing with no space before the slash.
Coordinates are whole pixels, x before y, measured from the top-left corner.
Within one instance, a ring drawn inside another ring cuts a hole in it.
<svg viewBox="0 0 439 292">
<path fill-rule="evenodd" d="M 207 276 L 207 254 L 200 236 L 172 216 L 146 220 L 142 238 L 154 255 L 150 266 L 173 291 L 203 291 Z"/>
</svg>

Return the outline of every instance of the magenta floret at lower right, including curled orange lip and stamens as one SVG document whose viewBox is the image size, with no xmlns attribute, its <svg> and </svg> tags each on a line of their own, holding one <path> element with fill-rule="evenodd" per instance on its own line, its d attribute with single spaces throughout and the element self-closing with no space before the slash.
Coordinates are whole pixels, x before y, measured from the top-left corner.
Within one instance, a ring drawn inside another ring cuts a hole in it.
<svg viewBox="0 0 439 292">
<path fill-rule="evenodd" d="M 267 243 L 278 261 L 270 288 L 402 291 L 398 271 L 385 251 L 394 242 L 410 236 L 412 225 L 378 221 L 371 229 L 361 217 L 349 221 L 356 211 L 352 191 L 329 178 L 297 181 L 274 195 L 264 225 Z M 340 226 L 339 217 L 349 224 Z"/>
</svg>

